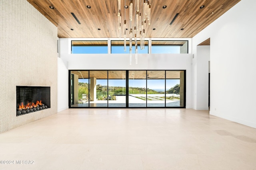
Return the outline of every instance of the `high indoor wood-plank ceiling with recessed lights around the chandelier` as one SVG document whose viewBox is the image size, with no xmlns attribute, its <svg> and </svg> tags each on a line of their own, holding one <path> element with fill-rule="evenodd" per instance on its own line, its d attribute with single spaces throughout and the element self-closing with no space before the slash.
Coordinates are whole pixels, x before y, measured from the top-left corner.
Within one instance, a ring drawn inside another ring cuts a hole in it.
<svg viewBox="0 0 256 170">
<path fill-rule="evenodd" d="M 59 38 L 119 37 L 118 0 L 27 1 L 58 27 Z M 129 6 L 130 0 L 121 1 L 121 7 L 124 7 L 124 2 Z M 239 1 L 150 0 L 151 25 L 146 28 L 146 37 L 194 37 Z M 88 5 L 91 8 L 86 8 Z M 49 6 L 53 6 L 54 9 L 49 8 Z M 201 9 L 200 6 L 204 6 L 204 8 Z M 81 24 L 75 20 L 71 13 L 74 13 Z M 178 14 L 177 18 L 170 25 L 176 14 Z M 128 21 L 128 14 L 126 14 L 126 18 Z"/>
</svg>

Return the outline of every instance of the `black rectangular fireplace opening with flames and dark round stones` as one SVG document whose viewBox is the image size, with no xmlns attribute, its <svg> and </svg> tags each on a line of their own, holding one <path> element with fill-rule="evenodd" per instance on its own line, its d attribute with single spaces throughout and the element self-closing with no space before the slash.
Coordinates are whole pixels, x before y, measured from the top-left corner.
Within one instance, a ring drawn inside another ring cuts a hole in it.
<svg viewBox="0 0 256 170">
<path fill-rule="evenodd" d="M 50 87 L 16 86 L 16 116 L 51 107 Z"/>
</svg>

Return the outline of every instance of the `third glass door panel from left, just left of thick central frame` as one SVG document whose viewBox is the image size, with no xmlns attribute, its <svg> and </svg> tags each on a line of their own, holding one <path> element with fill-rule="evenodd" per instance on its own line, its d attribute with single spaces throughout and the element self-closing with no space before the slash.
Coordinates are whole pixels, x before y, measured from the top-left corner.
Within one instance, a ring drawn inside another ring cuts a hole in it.
<svg viewBox="0 0 256 170">
<path fill-rule="evenodd" d="M 126 71 L 108 71 L 108 107 L 126 107 Z"/>
</svg>

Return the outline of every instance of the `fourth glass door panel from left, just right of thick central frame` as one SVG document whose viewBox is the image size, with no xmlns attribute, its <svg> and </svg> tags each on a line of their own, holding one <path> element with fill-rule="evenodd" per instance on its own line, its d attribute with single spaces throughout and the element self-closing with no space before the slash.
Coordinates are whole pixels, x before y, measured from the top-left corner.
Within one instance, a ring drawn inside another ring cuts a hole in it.
<svg viewBox="0 0 256 170">
<path fill-rule="evenodd" d="M 146 107 L 146 70 L 129 71 L 129 107 Z"/>
</svg>

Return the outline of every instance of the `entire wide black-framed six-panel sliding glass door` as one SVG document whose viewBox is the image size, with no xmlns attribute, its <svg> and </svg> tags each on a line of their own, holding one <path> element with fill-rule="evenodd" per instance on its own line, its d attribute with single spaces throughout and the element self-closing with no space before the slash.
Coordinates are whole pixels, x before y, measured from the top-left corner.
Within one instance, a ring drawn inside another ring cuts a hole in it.
<svg viewBox="0 0 256 170">
<path fill-rule="evenodd" d="M 185 70 L 70 70 L 70 108 L 186 107 Z"/>
</svg>

